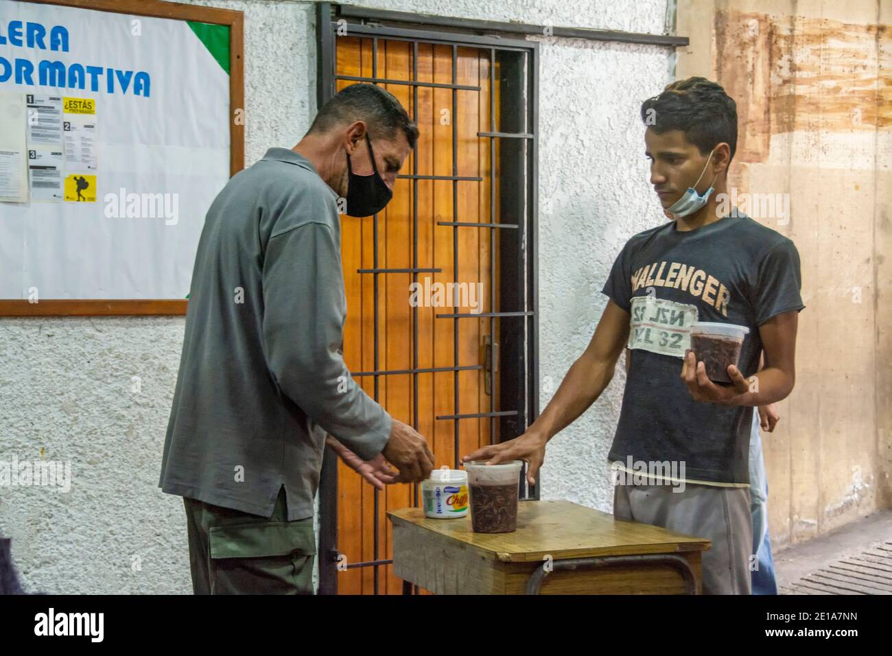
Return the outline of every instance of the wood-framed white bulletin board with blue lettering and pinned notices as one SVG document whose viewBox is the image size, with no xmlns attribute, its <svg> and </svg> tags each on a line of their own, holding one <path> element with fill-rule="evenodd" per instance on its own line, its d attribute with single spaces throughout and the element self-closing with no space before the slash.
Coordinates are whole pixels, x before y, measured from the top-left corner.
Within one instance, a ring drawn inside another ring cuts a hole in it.
<svg viewBox="0 0 892 656">
<path fill-rule="evenodd" d="M 0 316 L 185 314 L 244 167 L 243 14 L 0 3 Z"/>
</svg>

